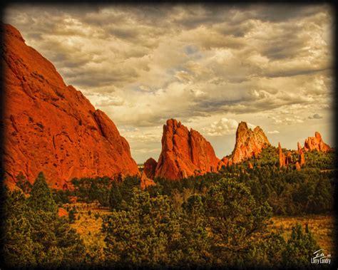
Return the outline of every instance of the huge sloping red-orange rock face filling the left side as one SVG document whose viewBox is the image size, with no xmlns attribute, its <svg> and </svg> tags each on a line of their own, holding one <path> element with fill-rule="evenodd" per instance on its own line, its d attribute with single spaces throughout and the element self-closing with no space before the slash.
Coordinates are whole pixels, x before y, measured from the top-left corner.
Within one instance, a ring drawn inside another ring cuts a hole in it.
<svg viewBox="0 0 338 270">
<path fill-rule="evenodd" d="M 62 189 L 73 177 L 138 175 L 113 121 L 66 85 L 19 31 L 9 25 L 1 31 L 6 181 L 23 172 L 34 182 L 43 171 L 51 187 Z"/>
</svg>

